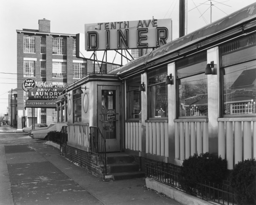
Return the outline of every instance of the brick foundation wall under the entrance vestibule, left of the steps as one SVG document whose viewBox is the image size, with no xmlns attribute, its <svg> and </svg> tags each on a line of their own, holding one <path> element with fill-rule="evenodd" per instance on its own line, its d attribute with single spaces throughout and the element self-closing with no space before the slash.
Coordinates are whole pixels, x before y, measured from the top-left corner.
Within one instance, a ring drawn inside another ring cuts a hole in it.
<svg viewBox="0 0 256 205">
<path fill-rule="evenodd" d="M 99 178 L 104 178 L 102 162 L 95 154 L 90 154 L 84 150 L 80 150 L 71 146 L 66 146 L 64 156 L 80 167 L 85 168 L 88 172 L 96 175 Z"/>
</svg>

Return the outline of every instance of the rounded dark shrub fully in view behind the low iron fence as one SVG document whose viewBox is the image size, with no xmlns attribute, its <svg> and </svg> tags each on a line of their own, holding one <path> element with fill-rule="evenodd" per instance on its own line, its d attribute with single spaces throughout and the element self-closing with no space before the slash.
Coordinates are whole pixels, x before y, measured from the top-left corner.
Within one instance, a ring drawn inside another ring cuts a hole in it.
<svg viewBox="0 0 256 205">
<path fill-rule="evenodd" d="M 209 152 L 194 154 L 183 161 L 181 186 L 185 191 L 198 189 L 197 183 L 221 183 L 226 175 L 227 161 Z"/>
</svg>

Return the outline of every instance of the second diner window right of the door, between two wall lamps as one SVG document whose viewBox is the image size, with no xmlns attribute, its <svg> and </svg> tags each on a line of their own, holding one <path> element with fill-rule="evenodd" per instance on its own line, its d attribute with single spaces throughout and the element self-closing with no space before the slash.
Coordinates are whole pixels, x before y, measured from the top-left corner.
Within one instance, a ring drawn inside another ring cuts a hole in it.
<svg viewBox="0 0 256 205">
<path fill-rule="evenodd" d="M 148 77 L 149 118 L 168 117 L 167 66 L 150 71 Z"/>
</svg>

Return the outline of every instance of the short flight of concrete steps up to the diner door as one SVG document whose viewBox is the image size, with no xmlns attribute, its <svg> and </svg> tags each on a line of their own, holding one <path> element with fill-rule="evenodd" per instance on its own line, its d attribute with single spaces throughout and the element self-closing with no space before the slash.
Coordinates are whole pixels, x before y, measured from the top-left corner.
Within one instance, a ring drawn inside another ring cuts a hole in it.
<svg viewBox="0 0 256 205">
<path fill-rule="evenodd" d="M 125 153 L 107 153 L 107 175 L 114 180 L 141 178 L 145 176 L 140 172 L 140 165 L 131 155 Z"/>
</svg>

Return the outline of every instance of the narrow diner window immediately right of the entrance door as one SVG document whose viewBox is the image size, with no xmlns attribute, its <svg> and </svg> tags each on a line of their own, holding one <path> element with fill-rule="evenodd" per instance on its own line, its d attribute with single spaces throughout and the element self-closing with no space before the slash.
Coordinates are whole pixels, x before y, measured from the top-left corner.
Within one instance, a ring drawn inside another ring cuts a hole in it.
<svg viewBox="0 0 256 205">
<path fill-rule="evenodd" d="M 127 118 L 141 118 L 140 76 L 127 79 Z"/>
</svg>

